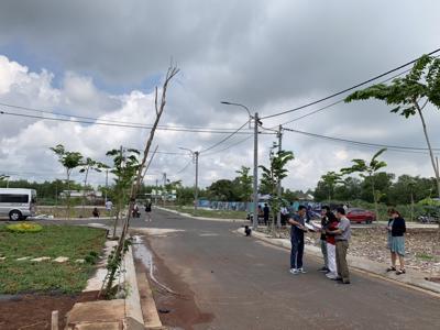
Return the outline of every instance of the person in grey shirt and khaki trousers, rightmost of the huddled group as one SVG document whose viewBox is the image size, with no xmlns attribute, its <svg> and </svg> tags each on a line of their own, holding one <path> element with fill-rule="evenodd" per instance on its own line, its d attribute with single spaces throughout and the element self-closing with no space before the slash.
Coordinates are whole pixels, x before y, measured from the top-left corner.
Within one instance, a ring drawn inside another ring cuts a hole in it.
<svg viewBox="0 0 440 330">
<path fill-rule="evenodd" d="M 328 234 L 334 234 L 336 252 L 337 252 L 337 279 L 343 284 L 350 284 L 349 265 L 346 264 L 346 252 L 349 250 L 349 241 L 351 238 L 350 220 L 345 217 L 345 210 L 342 207 L 337 208 L 338 229 L 329 230 Z"/>
</svg>

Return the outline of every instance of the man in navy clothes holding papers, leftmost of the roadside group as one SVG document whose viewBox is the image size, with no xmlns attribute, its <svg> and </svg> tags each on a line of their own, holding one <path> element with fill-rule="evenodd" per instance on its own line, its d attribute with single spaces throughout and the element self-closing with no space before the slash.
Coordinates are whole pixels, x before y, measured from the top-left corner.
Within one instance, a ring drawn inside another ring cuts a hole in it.
<svg viewBox="0 0 440 330">
<path fill-rule="evenodd" d="M 288 222 L 292 224 L 290 228 L 290 273 L 294 275 L 306 273 L 302 267 L 302 255 L 304 255 L 304 233 L 307 232 L 306 223 L 307 209 L 300 205 L 298 212 L 293 215 Z"/>
</svg>

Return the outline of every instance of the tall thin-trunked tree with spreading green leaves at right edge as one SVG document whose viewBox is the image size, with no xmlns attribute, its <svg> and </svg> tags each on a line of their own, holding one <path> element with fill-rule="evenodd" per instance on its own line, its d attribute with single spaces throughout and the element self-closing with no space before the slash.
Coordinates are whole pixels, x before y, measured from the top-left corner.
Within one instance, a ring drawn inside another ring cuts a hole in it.
<svg viewBox="0 0 440 330">
<path fill-rule="evenodd" d="M 432 153 L 431 142 L 424 117 L 428 103 L 440 109 L 440 58 L 424 55 L 404 78 L 396 78 L 389 85 L 377 84 L 350 95 L 345 102 L 354 100 L 378 99 L 387 105 L 397 106 L 393 110 L 405 118 L 418 114 L 429 148 L 431 165 L 436 174 L 437 190 L 440 197 L 440 170 Z"/>
</svg>

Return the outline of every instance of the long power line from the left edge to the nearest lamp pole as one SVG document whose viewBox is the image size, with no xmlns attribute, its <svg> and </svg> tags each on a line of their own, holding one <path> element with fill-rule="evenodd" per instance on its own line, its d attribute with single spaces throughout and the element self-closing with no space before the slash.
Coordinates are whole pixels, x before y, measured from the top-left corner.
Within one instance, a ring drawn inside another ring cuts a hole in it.
<svg viewBox="0 0 440 330">
<path fill-rule="evenodd" d="M 33 114 L 24 114 L 24 113 L 15 113 L 9 111 L 0 111 L 0 114 L 13 116 L 13 117 L 21 117 L 21 118 L 31 118 L 31 119 L 41 119 L 41 120 L 51 120 L 51 121 L 62 121 L 62 122 L 72 122 L 72 123 L 85 123 L 85 124 L 97 124 L 97 125 L 105 125 L 105 127 L 117 127 L 117 128 L 131 128 L 131 129 L 152 129 L 150 125 L 143 124 L 118 124 L 118 123 L 110 123 L 110 122 L 92 122 L 86 120 L 73 120 L 67 118 L 46 118 L 42 116 L 33 116 Z M 162 131 L 177 131 L 177 132 L 190 132 L 190 133 L 213 133 L 213 134 L 230 134 L 231 131 L 216 131 L 209 129 L 184 129 L 184 128 L 174 128 L 174 127 L 158 127 L 157 130 Z M 233 134 L 246 134 L 250 135 L 252 132 L 238 132 L 233 131 Z"/>
</svg>

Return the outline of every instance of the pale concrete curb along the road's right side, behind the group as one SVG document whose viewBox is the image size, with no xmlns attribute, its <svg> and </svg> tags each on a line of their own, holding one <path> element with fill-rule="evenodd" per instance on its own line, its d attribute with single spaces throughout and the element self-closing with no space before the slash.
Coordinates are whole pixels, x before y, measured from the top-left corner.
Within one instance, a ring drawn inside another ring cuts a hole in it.
<svg viewBox="0 0 440 330">
<path fill-rule="evenodd" d="M 239 228 L 235 232 L 244 235 L 244 228 Z M 255 231 L 252 232 L 252 235 L 255 239 L 264 241 L 272 245 L 284 248 L 286 250 L 292 249 L 290 240 L 288 239 L 273 239 L 264 233 Z M 322 258 L 321 249 L 317 246 L 306 244 L 305 252 L 315 257 Z M 374 275 L 376 277 L 394 282 L 404 286 L 408 286 L 411 288 L 421 289 L 436 297 L 440 297 L 440 284 L 425 279 L 424 274 L 419 272 L 407 270 L 407 274 L 398 276 L 395 275 L 394 273 L 385 273 L 384 270 L 386 270 L 387 267 L 386 264 L 353 255 L 349 255 L 348 263 L 349 266 L 354 268 L 355 271 L 367 273 L 370 275 Z"/>
</svg>

